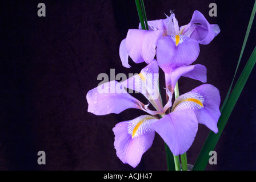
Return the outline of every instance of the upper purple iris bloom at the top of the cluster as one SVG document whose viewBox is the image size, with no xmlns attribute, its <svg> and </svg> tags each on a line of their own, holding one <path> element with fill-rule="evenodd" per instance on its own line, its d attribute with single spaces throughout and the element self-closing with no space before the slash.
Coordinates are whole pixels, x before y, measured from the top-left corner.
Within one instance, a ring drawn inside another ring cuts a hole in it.
<svg viewBox="0 0 256 182">
<path fill-rule="evenodd" d="M 148 21 L 149 30 L 129 30 L 122 40 L 119 55 L 124 67 L 130 68 L 128 57 L 135 63 L 147 64 L 154 60 L 170 73 L 173 67 L 189 65 L 199 55 L 199 44 L 209 44 L 220 32 L 217 24 L 210 24 L 199 11 L 194 11 L 189 24 L 178 26 L 175 15 Z M 156 49 L 157 47 L 157 49 Z"/>
</svg>

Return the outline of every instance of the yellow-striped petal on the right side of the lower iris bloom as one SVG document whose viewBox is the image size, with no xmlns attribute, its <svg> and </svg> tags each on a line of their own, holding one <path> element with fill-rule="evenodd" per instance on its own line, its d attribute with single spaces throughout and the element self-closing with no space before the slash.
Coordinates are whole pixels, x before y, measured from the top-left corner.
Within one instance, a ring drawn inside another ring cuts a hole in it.
<svg viewBox="0 0 256 182">
<path fill-rule="evenodd" d="M 207 126 L 214 133 L 218 133 L 218 119 L 221 115 L 219 104 L 221 97 L 219 90 L 210 84 L 203 84 L 177 98 L 172 111 L 192 109 L 197 116 L 198 123 Z"/>
</svg>

